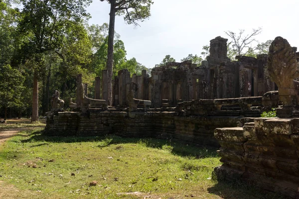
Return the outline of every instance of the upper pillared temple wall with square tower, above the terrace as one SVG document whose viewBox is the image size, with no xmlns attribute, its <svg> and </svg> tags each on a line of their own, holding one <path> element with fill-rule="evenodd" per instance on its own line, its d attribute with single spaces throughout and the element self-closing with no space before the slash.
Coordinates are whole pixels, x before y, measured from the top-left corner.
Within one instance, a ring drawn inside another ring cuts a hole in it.
<svg viewBox="0 0 299 199">
<path fill-rule="evenodd" d="M 141 75 L 121 70 L 113 81 L 113 106 L 128 106 L 126 88 L 131 82 L 138 87 L 136 99 L 150 100 L 153 108 L 176 106 L 181 101 L 195 99 L 257 97 L 275 90 L 267 71 L 268 55 L 237 56 L 236 59 L 231 62 L 227 57 L 227 39 L 216 37 L 210 41 L 210 55 L 200 67 L 190 60 L 169 62 L 153 68 L 151 77 L 146 70 Z M 101 99 L 106 101 L 107 74 L 104 70 L 101 84 Z M 96 99 L 100 99 L 96 91 Z"/>
</svg>

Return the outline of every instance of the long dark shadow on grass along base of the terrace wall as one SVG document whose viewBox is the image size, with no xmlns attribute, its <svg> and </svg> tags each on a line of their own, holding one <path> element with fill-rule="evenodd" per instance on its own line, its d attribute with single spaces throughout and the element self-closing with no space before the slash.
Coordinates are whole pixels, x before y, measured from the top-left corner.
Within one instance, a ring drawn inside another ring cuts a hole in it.
<svg viewBox="0 0 299 199">
<path fill-rule="evenodd" d="M 107 147 L 113 144 L 139 143 L 150 148 L 169 150 L 172 154 L 179 156 L 192 156 L 195 158 L 218 157 L 216 147 L 199 147 L 194 144 L 183 144 L 173 142 L 172 140 L 162 140 L 156 138 L 129 138 L 116 135 L 105 136 L 47 136 L 42 134 L 43 131 L 27 132 L 29 138 L 21 140 L 22 143 L 27 142 L 53 142 L 53 143 L 75 143 L 75 142 L 99 142 L 98 147 Z M 42 145 L 44 145 L 43 143 Z"/>
</svg>

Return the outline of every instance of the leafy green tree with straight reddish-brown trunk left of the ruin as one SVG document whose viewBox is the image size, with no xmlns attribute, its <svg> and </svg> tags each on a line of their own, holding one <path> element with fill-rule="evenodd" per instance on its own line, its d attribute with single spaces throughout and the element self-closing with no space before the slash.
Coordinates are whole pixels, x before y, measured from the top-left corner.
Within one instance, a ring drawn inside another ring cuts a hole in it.
<svg viewBox="0 0 299 199">
<path fill-rule="evenodd" d="M 25 43 L 27 58 L 37 63 L 33 77 L 31 121 L 38 120 L 38 74 L 42 69 L 44 53 L 57 49 L 63 38 L 66 20 L 81 21 L 89 14 L 85 7 L 91 0 L 22 0 L 20 33 L 30 35 Z"/>
</svg>

